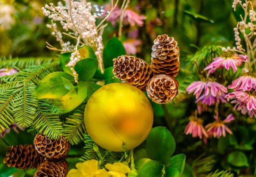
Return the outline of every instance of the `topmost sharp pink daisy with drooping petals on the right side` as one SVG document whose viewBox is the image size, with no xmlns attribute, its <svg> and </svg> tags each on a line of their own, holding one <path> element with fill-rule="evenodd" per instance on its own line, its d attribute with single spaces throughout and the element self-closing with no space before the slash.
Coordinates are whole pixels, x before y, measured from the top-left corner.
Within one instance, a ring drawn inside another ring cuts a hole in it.
<svg viewBox="0 0 256 177">
<path fill-rule="evenodd" d="M 204 71 L 209 70 L 208 75 L 215 72 L 218 68 L 226 68 L 227 70 L 232 68 L 236 72 L 237 66 L 241 66 L 243 62 L 248 61 L 248 56 L 235 54 L 233 57 L 216 57 L 213 60 L 213 62 L 204 68 Z"/>
</svg>

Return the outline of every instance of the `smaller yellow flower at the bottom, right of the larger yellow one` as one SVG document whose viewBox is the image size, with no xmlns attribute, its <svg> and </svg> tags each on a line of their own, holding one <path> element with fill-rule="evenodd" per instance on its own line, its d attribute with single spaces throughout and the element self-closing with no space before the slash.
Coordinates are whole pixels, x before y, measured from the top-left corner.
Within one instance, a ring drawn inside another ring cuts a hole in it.
<svg viewBox="0 0 256 177">
<path fill-rule="evenodd" d="M 109 170 L 108 173 L 110 173 L 113 177 L 125 177 L 126 173 L 130 172 L 129 166 L 121 163 L 121 162 L 115 162 L 114 164 L 106 164 L 105 167 Z"/>
</svg>

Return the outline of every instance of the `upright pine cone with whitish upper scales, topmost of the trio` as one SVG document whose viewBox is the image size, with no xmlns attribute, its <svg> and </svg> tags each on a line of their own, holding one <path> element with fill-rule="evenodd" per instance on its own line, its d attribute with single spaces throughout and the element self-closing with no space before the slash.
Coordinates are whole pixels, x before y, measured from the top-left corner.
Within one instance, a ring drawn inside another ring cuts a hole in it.
<svg viewBox="0 0 256 177">
<path fill-rule="evenodd" d="M 173 37 L 159 35 L 154 40 L 151 53 L 152 72 L 177 76 L 180 70 L 180 48 Z"/>
</svg>

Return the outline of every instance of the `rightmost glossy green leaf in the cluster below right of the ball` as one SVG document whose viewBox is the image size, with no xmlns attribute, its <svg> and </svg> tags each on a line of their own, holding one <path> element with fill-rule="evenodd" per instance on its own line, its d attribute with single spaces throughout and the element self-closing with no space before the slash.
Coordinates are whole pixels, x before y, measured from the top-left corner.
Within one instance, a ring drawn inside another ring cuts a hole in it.
<svg viewBox="0 0 256 177">
<path fill-rule="evenodd" d="M 184 170 L 185 162 L 186 162 L 186 155 L 177 154 L 170 158 L 166 166 L 177 169 L 180 177 Z"/>
</svg>

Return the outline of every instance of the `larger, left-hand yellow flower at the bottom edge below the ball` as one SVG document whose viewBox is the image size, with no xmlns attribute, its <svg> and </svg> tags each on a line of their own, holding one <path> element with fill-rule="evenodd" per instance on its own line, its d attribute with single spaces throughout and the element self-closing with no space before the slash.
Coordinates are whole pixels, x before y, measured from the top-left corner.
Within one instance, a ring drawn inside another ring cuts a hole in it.
<svg viewBox="0 0 256 177">
<path fill-rule="evenodd" d="M 77 163 L 76 168 L 70 169 L 67 177 L 110 177 L 105 169 L 98 168 L 98 161 L 94 159 Z"/>
</svg>

